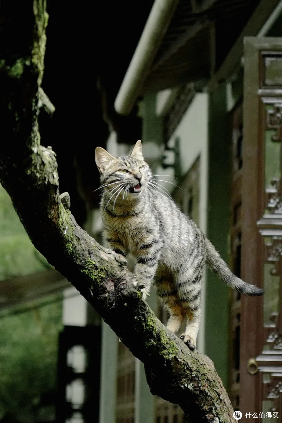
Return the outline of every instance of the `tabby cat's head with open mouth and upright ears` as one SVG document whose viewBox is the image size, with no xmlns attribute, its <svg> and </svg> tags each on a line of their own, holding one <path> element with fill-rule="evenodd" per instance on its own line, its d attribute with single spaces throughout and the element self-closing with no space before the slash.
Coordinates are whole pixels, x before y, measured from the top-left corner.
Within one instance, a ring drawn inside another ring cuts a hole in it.
<svg viewBox="0 0 282 423">
<path fill-rule="evenodd" d="M 137 198 L 146 189 L 152 175 L 143 158 L 141 140 L 137 141 L 132 153 L 124 157 L 113 157 L 104 148 L 97 147 L 95 162 L 102 187 L 114 194 L 113 197 L 125 193 L 127 199 Z"/>
</svg>

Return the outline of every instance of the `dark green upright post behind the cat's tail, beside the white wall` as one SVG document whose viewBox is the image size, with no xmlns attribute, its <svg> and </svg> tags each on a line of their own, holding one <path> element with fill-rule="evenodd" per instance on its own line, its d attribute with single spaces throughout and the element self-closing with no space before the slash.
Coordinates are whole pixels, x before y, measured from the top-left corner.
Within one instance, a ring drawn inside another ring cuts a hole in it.
<svg viewBox="0 0 282 423">
<path fill-rule="evenodd" d="M 209 96 L 209 167 L 207 237 L 228 262 L 231 193 L 230 136 L 226 113 L 226 86 Z M 228 288 L 207 271 L 205 354 L 214 362 L 225 387 L 228 383 Z"/>
</svg>

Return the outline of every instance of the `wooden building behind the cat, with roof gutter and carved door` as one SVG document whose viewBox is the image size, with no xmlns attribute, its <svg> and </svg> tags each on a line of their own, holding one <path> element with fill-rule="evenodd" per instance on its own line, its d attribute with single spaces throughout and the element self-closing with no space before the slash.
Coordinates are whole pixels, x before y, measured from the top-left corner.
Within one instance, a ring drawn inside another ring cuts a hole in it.
<svg viewBox="0 0 282 423">
<path fill-rule="evenodd" d="M 120 115 L 138 104 L 146 159 L 154 173 L 177 177 L 182 190 L 163 186 L 182 211 L 236 275 L 265 289 L 240 296 L 207 272 L 198 339 L 234 409 L 265 413 L 261 421 L 274 412 L 282 421 L 281 12 L 281 1 L 156 1 L 115 100 Z M 130 151 L 118 132 L 108 149 Z M 165 321 L 154 294 L 148 302 Z M 101 376 L 101 423 L 184 421 L 175 405 L 152 397 L 121 343 L 115 354 L 113 379 Z M 111 408 L 103 391 L 114 380 Z"/>
</svg>

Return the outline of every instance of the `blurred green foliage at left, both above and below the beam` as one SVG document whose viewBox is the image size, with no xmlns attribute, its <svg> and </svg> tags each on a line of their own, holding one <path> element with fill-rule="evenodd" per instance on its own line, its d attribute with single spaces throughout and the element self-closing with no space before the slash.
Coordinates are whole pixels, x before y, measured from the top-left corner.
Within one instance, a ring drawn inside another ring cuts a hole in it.
<svg viewBox="0 0 282 423">
<path fill-rule="evenodd" d="M 13 284 L 13 277 L 46 267 L 0 186 L 0 280 Z M 29 306 L 25 311 L 6 310 L 0 320 L 0 419 L 9 416 L 12 423 L 38 422 L 48 409 L 49 417 L 54 413 L 62 299 L 57 295 L 48 304 Z"/>
</svg>

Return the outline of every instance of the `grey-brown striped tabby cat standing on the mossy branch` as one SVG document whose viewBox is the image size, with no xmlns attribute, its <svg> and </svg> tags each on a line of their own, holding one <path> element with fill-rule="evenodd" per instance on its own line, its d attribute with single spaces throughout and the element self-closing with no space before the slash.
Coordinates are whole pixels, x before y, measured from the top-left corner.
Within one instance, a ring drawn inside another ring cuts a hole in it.
<svg viewBox="0 0 282 423">
<path fill-rule="evenodd" d="M 200 297 L 207 264 L 228 286 L 246 295 L 263 290 L 239 279 L 196 223 L 185 216 L 153 179 L 141 141 L 130 156 L 113 157 L 101 147 L 95 161 L 103 188 L 104 236 L 116 253 L 134 259 L 138 287 L 146 299 L 151 285 L 170 313 L 167 328 L 194 350 L 199 330 Z"/>
</svg>

